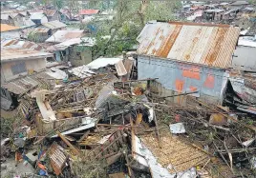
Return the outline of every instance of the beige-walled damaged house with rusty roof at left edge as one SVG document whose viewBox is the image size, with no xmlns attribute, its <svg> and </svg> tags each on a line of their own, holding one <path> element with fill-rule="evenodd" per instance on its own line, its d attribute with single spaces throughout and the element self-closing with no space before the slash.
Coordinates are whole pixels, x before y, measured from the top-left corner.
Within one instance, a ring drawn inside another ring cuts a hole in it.
<svg viewBox="0 0 256 178">
<path fill-rule="evenodd" d="M 27 75 L 46 69 L 52 53 L 40 51 L 31 42 L 10 40 L 1 42 L 1 108 L 17 105 L 17 96 L 38 85 Z M 46 77 L 46 76 L 43 76 Z"/>
</svg>

